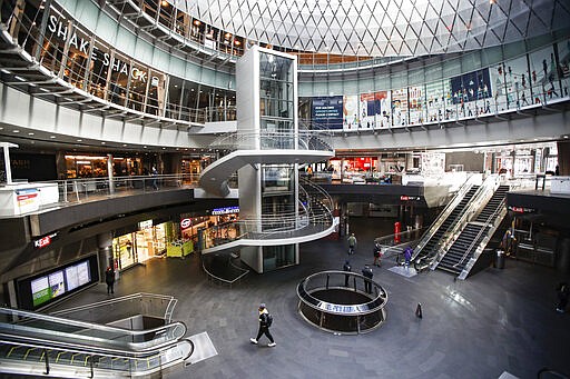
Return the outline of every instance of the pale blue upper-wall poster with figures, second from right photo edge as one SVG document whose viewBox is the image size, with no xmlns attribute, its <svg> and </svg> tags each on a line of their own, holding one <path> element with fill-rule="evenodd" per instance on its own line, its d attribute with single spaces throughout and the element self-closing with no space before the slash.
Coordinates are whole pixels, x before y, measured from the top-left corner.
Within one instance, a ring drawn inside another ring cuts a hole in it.
<svg viewBox="0 0 570 379">
<path fill-rule="evenodd" d="M 533 103 L 560 97 L 554 51 L 546 48 L 529 54 Z"/>
</svg>

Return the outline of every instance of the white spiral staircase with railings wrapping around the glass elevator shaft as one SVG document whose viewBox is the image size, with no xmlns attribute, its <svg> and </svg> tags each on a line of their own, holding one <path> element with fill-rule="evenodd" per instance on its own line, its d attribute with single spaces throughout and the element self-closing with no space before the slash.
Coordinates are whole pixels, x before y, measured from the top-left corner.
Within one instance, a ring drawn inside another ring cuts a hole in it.
<svg viewBox="0 0 570 379">
<path fill-rule="evenodd" d="M 255 146 L 253 140 L 261 140 L 263 143 L 258 149 L 250 149 L 249 147 Z M 297 163 L 302 167 L 304 163 L 334 157 L 331 132 L 321 130 L 303 130 L 297 133 L 232 133 L 215 141 L 213 147 L 230 151 L 208 166 L 199 179 L 200 188 L 216 197 L 227 197 L 230 193 L 229 180 L 244 166 L 261 168 L 262 164 Z M 295 179 L 298 179 L 298 197 L 294 211 L 275 212 L 262 209 L 261 218 L 240 218 L 226 227 L 224 238 L 205 239 L 202 252 L 210 253 L 245 246 L 299 243 L 330 235 L 334 229 L 332 198 L 321 187 L 298 178 L 297 171 Z M 208 229 L 204 235 L 213 235 L 212 228 Z"/>
</svg>

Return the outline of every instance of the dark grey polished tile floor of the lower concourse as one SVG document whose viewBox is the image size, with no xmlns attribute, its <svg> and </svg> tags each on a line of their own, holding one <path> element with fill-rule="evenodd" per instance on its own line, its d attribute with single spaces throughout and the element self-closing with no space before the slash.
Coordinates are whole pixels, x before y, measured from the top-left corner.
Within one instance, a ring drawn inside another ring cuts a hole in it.
<svg viewBox="0 0 570 379">
<path fill-rule="evenodd" d="M 372 263 L 372 241 L 390 233 L 392 221 L 351 220 L 358 247 L 353 270 Z M 556 285 L 568 280 L 550 268 L 508 259 L 465 281 L 442 271 L 405 278 L 374 268 L 389 292 L 387 319 L 375 331 L 335 336 L 307 325 L 296 312 L 295 288 L 304 277 L 342 269 L 346 242 L 323 239 L 301 246 L 301 265 L 265 275 L 249 273 L 228 288 L 209 281 L 199 258 L 158 258 L 121 275 L 115 296 L 134 292 L 178 298 L 174 319 L 188 335 L 207 332 L 217 356 L 171 371 L 166 378 L 537 378 L 549 367 L 570 375 L 570 313 L 558 313 Z M 71 307 L 107 299 L 105 285 L 73 297 Z M 257 331 L 257 306 L 274 316 L 277 346 Z M 415 317 L 417 302 L 423 318 Z M 61 307 L 60 307 L 61 308 Z M 63 307 L 65 308 L 65 307 Z"/>
</svg>

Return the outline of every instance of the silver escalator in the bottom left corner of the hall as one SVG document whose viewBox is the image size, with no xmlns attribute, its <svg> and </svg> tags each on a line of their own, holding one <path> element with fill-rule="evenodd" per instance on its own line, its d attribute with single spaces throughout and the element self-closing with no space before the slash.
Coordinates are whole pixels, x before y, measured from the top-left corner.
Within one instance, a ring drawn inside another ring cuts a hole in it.
<svg viewBox="0 0 570 379">
<path fill-rule="evenodd" d="M 159 375 L 194 351 L 186 326 L 128 330 L 0 308 L 0 372 L 59 378 Z"/>
</svg>

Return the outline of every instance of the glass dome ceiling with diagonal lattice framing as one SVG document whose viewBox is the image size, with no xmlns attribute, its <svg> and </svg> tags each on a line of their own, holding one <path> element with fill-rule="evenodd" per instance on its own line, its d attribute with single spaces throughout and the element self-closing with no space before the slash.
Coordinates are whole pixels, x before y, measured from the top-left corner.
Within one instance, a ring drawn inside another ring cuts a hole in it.
<svg viewBox="0 0 570 379">
<path fill-rule="evenodd" d="M 220 30 L 273 46 L 407 57 L 497 46 L 568 28 L 568 0 L 174 0 Z"/>
</svg>

